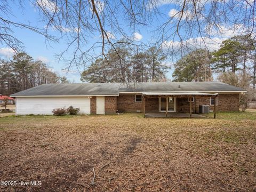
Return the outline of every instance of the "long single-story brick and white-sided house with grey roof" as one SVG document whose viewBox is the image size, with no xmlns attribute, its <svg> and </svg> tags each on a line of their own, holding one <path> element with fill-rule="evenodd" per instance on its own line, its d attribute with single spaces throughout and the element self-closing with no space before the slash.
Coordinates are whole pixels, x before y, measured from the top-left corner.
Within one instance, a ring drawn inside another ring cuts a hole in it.
<svg viewBox="0 0 256 192">
<path fill-rule="evenodd" d="M 199 105 L 238 111 L 244 92 L 221 82 L 75 83 L 43 84 L 11 96 L 16 98 L 17 115 L 50 115 L 55 108 L 69 106 L 80 108 L 80 114 L 191 114 L 198 113 Z"/>
</svg>

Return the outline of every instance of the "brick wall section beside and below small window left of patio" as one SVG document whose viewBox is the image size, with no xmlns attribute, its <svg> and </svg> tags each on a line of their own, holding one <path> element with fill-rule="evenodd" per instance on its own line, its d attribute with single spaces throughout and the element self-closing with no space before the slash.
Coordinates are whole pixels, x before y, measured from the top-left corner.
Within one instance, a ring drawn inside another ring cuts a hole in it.
<svg viewBox="0 0 256 192">
<path fill-rule="evenodd" d="M 117 110 L 122 112 L 142 111 L 142 102 L 135 102 L 135 94 L 119 94 Z"/>
</svg>

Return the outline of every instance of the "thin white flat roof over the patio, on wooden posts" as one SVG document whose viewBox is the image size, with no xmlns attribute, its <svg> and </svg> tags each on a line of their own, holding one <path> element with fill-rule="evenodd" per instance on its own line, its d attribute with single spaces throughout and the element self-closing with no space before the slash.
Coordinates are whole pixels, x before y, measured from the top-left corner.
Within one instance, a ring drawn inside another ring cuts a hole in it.
<svg viewBox="0 0 256 192">
<path fill-rule="evenodd" d="M 174 96 L 174 97 L 194 97 L 198 96 L 218 96 L 218 93 L 202 93 L 202 92 L 141 92 L 142 95 L 148 96 Z"/>
</svg>

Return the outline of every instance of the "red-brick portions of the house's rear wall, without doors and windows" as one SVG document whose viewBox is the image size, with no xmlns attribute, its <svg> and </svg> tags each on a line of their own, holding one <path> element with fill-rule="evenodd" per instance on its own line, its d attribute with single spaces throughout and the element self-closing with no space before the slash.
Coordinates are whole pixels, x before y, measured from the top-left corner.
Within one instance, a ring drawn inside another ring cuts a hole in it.
<svg viewBox="0 0 256 192">
<path fill-rule="evenodd" d="M 145 98 L 145 110 L 148 112 L 158 112 L 158 98 Z M 210 105 L 210 97 L 196 98 L 196 112 L 199 112 L 199 105 Z M 135 94 L 120 94 L 119 97 L 105 97 L 105 114 L 115 114 L 116 110 L 122 112 L 142 111 L 142 102 L 135 102 Z M 177 112 L 189 113 L 188 98 L 177 98 Z M 195 102 L 192 103 L 193 113 L 195 112 Z M 210 106 L 213 110 L 213 106 Z M 219 94 L 218 111 L 238 111 L 239 94 Z M 91 98 L 91 114 L 96 114 L 96 97 Z"/>
</svg>

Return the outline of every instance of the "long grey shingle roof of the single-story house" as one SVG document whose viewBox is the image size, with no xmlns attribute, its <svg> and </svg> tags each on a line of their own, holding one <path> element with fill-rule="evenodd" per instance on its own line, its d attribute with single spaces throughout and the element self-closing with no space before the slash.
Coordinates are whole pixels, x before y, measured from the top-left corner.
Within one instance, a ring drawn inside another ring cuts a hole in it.
<svg viewBox="0 0 256 192">
<path fill-rule="evenodd" d="M 170 83 L 70 83 L 43 84 L 12 94 L 26 95 L 118 95 L 120 92 L 225 92 L 244 91 L 221 82 L 170 82 Z"/>
</svg>

